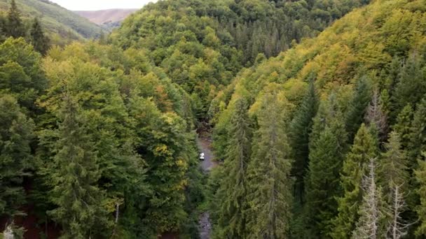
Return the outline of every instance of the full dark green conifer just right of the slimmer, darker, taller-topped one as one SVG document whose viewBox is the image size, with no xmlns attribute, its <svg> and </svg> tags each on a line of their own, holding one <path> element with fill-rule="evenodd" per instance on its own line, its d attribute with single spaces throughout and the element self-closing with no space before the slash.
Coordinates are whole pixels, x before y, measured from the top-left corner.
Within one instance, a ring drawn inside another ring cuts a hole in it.
<svg viewBox="0 0 426 239">
<path fill-rule="evenodd" d="M 327 117 L 317 116 L 325 126 L 324 129 L 315 126 L 320 132 L 312 132 L 316 136 L 311 138 L 309 171 L 305 178 L 305 227 L 309 229 L 308 235 L 318 238 L 331 231 L 331 219 L 337 215 L 336 197 L 341 196 L 339 173 L 347 137 L 342 113 L 333 106 L 327 110 Z"/>
</svg>

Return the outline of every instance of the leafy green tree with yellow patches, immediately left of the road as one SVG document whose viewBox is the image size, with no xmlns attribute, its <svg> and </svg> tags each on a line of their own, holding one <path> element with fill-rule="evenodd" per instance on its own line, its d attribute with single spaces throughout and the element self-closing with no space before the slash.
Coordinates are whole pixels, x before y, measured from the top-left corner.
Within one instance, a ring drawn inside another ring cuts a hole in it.
<svg viewBox="0 0 426 239">
<path fill-rule="evenodd" d="M 178 231 L 184 222 L 185 187 L 188 184 L 190 143 L 186 122 L 176 113 L 161 113 L 152 99 L 133 96 L 130 116 L 137 134 L 135 150 L 146 162 L 146 184 L 152 194 L 146 203 L 137 205 L 142 235 L 157 236 L 165 231 Z M 140 200 L 140 199 L 139 199 Z"/>
</svg>

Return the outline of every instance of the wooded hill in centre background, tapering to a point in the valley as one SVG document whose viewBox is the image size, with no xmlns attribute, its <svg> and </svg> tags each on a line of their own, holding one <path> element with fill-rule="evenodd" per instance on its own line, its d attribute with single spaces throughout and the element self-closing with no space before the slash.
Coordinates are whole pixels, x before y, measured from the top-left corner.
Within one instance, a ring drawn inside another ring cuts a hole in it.
<svg viewBox="0 0 426 239">
<path fill-rule="evenodd" d="M 203 120 L 217 90 L 243 66 L 317 35 L 366 2 L 159 1 L 128 17 L 111 42 L 143 50 L 173 82 L 196 92 L 195 114 Z"/>
</svg>

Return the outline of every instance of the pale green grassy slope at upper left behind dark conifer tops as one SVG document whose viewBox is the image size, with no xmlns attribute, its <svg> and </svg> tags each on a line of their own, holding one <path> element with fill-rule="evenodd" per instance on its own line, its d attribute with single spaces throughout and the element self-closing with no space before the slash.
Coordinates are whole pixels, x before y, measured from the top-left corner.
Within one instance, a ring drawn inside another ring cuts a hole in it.
<svg viewBox="0 0 426 239">
<path fill-rule="evenodd" d="M 39 17 L 48 33 L 62 38 L 95 38 L 101 27 L 48 0 L 16 0 L 22 17 Z M 9 1 L 0 1 L 0 11 L 7 12 Z"/>
</svg>

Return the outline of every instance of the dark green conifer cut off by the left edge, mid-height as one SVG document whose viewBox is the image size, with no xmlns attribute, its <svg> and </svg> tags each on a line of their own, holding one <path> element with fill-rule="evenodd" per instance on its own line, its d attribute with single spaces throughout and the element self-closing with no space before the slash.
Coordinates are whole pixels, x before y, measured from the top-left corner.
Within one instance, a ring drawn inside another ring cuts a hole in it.
<svg viewBox="0 0 426 239">
<path fill-rule="evenodd" d="M 13 217 L 25 201 L 22 180 L 32 166 L 34 123 L 13 96 L 0 96 L 0 215 Z"/>
</svg>

